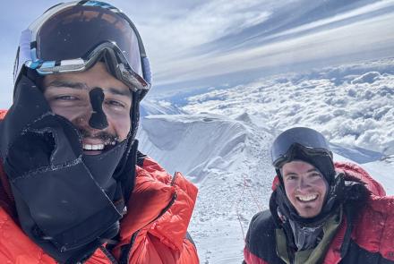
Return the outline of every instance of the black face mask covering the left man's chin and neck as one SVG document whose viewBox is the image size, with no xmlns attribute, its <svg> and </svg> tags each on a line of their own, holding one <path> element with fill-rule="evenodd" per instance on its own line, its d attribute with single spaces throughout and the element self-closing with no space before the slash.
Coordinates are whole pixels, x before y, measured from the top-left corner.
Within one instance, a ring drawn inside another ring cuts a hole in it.
<svg viewBox="0 0 394 264">
<path fill-rule="evenodd" d="M 53 114 L 26 74 L 17 81 L 13 106 L 0 123 L 4 171 L 21 228 L 60 263 L 86 260 L 119 231 L 135 177 L 139 98 L 134 94 L 127 139 L 87 156 L 73 123 Z"/>
</svg>

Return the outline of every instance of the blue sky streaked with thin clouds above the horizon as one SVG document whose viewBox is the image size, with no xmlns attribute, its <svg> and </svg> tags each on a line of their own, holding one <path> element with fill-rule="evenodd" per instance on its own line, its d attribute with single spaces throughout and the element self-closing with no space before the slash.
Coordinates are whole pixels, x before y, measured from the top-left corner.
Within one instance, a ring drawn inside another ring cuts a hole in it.
<svg viewBox="0 0 394 264">
<path fill-rule="evenodd" d="M 394 0 L 108 1 L 141 32 L 152 94 L 393 56 Z M 9 2 L 0 17 L 0 107 L 10 106 L 21 30 L 57 1 Z"/>
</svg>

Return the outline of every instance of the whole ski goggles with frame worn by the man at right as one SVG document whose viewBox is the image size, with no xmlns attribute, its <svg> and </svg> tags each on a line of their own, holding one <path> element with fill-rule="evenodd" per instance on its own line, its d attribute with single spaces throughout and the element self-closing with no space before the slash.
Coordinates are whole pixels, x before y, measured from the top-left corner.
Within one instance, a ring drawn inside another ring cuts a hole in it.
<svg viewBox="0 0 394 264">
<path fill-rule="evenodd" d="M 297 151 L 313 158 L 322 156 L 332 159 L 329 143 L 320 132 L 306 127 L 295 127 L 282 132 L 270 149 L 272 165 L 279 168 L 292 160 Z"/>
</svg>

